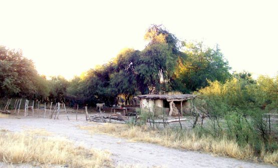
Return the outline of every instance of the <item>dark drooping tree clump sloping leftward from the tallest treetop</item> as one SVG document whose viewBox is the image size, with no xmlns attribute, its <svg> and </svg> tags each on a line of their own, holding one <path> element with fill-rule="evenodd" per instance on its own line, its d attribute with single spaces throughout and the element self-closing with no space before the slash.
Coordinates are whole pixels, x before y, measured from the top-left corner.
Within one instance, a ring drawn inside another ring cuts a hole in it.
<svg viewBox="0 0 278 168">
<path fill-rule="evenodd" d="M 68 93 L 86 97 L 90 104 L 113 104 L 114 98 L 121 95 L 127 104 L 130 97 L 139 93 L 170 91 L 178 60 L 185 58 L 179 51 L 179 41 L 160 25 L 152 25 L 145 39 L 149 40 L 145 49 L 122 50 L 107 64 L 89 70 L 79 84 L 73 80 Z"/>
</svg>

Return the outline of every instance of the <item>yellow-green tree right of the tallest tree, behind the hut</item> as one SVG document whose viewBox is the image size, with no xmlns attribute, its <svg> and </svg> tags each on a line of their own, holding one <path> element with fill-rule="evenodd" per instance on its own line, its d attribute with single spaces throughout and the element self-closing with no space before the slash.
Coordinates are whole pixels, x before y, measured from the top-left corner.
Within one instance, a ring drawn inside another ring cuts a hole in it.
<svg viewBox="0 0 278 168">
<path fill-rule="evenodd" d="M 223 83 L 231 77 L 228 61 L 224 59 L 218 45 L 206 48 L 202 42 L 184 42 L 184 46 L 188 58 L 180 61 L 175 72 L 173 85 L 177 90 L 195 91 L 207 86 L 208 80 Z"/>
</svg>

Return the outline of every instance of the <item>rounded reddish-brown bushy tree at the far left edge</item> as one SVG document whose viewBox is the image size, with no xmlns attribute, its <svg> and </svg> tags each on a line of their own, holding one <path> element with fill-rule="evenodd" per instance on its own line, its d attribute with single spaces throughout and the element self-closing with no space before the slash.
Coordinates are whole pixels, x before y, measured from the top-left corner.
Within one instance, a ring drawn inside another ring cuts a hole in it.
<svg viewBox="0 0 278 168">
<path fill-rule="evenodd" d="M 32 60 L 20 50 L 0 46 L 0 97 L 46 96 L 48 86 Z"/>
</svg>

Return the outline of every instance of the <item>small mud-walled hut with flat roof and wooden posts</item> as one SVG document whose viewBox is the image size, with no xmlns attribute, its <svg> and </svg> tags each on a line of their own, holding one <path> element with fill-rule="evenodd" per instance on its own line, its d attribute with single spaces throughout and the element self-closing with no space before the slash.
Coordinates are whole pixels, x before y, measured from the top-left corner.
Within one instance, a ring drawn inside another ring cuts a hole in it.
<svg viewBox="0 0 278 168">
<path fill-rule="evenodd" d="M 169 116 L 176 116 L 180 113 L 190 113 L 192 99 L 196 97 L 194 94 L 144 94 L 138 95 L 140 100 L 140 107 L 152 112 L 161 110 L 169 114 Z"/>
</svg>

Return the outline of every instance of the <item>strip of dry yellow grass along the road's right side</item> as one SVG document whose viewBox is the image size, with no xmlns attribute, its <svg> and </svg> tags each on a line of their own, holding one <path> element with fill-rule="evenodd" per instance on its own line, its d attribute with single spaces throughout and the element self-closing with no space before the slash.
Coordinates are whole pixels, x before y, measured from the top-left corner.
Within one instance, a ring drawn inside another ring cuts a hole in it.
<svg viewBox="0 0 278 168">
<path fill-rule="evenodd" d="M 229 156 L 237 159 L 257 160 L 253 149 L 246 145 L 240 147 L 235 141 L 227 138 L 215 139 L 211 136 L 199 137 L 192 130 L 176 131 L 170 128 L 163 130 L 152 130 L 146 126 L 132 126 L 123 124 L 105 123 L 97 126 L 81 126 L 91 133 L 107 133 L 114 136 L 128 138 L 132 141 L 143 141 L 160 144 L 166 147 L 174 147 L 188 150 L 198 150 L 215 155 Z M 267 163 L 277 165 L 278 152 L 267 153 L 262 157 Z"/>
</svg>

